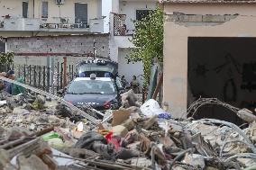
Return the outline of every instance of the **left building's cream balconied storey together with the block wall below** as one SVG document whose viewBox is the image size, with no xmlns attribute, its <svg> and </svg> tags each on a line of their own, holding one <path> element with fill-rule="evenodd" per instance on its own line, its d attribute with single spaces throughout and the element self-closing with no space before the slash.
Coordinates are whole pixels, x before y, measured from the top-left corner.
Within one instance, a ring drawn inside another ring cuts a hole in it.
<svg viewBox="0 0 256 170">
<path fill-rule="evenodd" d="M 33 59 L 41 56 L 91 56 L 94 44 L 96 56 L 108 58 L 110 3 L 111 0 L 3 0 L 0 36 L 6 40 L 5 49 L 14 51 L 15 61 L 23 64 L 45 64 L 46 58 Z"/>
</svg>

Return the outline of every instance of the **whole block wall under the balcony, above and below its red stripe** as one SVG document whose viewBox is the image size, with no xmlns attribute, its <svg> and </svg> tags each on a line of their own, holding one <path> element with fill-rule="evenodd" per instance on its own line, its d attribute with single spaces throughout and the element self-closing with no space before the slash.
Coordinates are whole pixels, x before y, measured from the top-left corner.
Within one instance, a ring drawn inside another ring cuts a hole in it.
<svg viewBox="0 0 256 170">
<path fill-rule="evenodd" d="M 54 36 L 8 38 L 7 50 L 16 53 L 14 62 L 27 65 L 46 65 L 47 57 L 70 58 L 76 63 L 81 58 L 72 56 L 92 55 L 93 41 L 96 40 L 96 56 L 108 58 L 109 35 Z M 69 60 L 69 59 L 68 59 Z"/>
</svg>

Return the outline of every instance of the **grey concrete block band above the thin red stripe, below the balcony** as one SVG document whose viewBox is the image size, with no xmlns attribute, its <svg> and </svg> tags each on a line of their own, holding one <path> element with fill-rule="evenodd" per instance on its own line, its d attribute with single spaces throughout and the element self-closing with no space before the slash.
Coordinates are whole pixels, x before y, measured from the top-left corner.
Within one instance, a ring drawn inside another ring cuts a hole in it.
<svg viewBox="0 0 256 170">
<path fill-rule="evenodd" d="M 108 57 L 108 35 L 52 36 L 8 38 L 7 50 L 15 53 L 78 53 L 93 52 L 96 40 L 96 54 Z"/>
</svg>

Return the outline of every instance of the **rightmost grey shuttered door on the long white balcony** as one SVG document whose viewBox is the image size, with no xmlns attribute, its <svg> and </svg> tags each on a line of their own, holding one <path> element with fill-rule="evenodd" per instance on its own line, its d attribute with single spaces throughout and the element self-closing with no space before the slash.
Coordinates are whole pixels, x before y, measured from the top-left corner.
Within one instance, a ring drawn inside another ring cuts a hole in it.
<svg viewBox="0 0 256 170">
<path fill-rule="evenodd" d="M 75 3 L 75 22 L 78 28 L 87 27 L 87 4 Z"/>
</svg>

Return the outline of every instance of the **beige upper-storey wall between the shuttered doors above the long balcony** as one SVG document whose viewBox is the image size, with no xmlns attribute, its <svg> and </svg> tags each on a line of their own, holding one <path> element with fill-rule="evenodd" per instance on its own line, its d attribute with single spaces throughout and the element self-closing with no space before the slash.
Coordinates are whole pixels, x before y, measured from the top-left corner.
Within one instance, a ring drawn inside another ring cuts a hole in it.
<svg viewBox="0 0 256 170">
<path fill-rule="evenodd" d="M 29 2 L 29 17 L 32 18 L 32 0 L 23 0 Z M 21 0 L 2 0 L 0 3 L 0 15 L 4 16 L 9 14 L 12 17 L 23 16 L 23 1 Z M 59 6 L 60 6 L 60 17 L 69 18 L 70 22 L 75 21 L 75 3 L 86 3 L 88 9 L 88 20 L 98 17 L 98 0 L 66 0 L 65 4 L 55 4 L 55 0 L 35 0 L 34 4 L 34 17 L 41 18 L 41 2 L 48 1 L 49 3 L 49 17 L 59 17 Z M 4 18 L 0 18 L 3 20 Z M 52 19 L 49 18 L 49 22 Z"/>
</svg>

